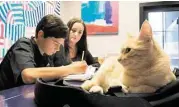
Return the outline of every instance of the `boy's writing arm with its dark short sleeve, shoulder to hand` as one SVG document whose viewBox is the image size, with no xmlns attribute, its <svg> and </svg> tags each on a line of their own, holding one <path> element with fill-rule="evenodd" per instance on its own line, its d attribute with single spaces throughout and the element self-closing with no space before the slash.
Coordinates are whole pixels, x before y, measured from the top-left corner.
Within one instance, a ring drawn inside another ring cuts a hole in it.
<svg viewBox="0 0 179 107">
<path fill-rule="evenodd" d="M 20 41 L 10 54 L 10 66 L 15 82 L 34 83 L 36 78 L 56 79 L 69 74 L 83 73 L 86 62 L 73 63 L 62 67 L 38 67 L 34 50 L 28 40 Z M 38 56 L 37 56 L 38 57 Z"/>
</svg>

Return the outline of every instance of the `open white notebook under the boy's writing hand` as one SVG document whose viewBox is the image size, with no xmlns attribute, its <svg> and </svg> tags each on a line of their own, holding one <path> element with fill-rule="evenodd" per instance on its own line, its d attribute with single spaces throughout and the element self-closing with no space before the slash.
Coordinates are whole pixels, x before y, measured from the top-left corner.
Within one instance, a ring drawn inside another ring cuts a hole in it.
<svg viewBox="0 0 179 107">
<path fill-rule="evenodd" d="M 68 75 L 64 77 L 64 80 L 78 80 L 78 81 L 85 81 L 93 77 L 95 71 L 97 70 L 96 67 L 88 66 L 86 72 L 84 74 L 76 74 L 76 75 Z"/>
</svg>

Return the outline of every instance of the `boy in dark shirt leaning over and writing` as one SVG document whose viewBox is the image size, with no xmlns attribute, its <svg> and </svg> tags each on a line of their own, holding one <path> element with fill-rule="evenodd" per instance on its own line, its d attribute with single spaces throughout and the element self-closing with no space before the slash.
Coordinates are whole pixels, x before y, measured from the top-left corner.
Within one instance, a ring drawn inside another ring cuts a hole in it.
<svg viewBox="0 0 179 107">
<path fill-rule="evenodd" d="M 84 73 L 87 68 L 84 61 L 70 64 L 65 56 L 54 59 L 57 51 L 64 52 L 60 49 L 67 34 L 68 27 L 59 17 L 44 16 L 36 27 L 35 37 L 20 38 L 5 55 L 0 65 L 0 90 L 31 84 L 36 78 L 51 80 Z M 66 66 L 54 67 L 57 60 Z"/>
</svg>

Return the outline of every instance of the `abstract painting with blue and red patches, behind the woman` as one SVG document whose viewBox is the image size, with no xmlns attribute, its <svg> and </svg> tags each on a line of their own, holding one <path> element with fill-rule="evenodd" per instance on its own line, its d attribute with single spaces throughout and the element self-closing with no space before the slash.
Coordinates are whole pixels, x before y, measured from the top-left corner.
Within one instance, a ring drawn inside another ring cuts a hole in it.
<svg viewBox="0 0 179 107">
<path fill-rule="evenodd" d="M 118 14 L 118 1 L 82 1 L 81 4 L 81 18 L 88 35 L 117 35 Z"/>
</svg>

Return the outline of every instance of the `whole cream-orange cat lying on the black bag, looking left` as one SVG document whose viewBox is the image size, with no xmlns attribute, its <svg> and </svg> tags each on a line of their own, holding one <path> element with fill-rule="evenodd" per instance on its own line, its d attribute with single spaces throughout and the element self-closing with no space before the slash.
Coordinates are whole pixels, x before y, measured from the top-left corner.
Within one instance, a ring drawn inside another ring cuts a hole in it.
<svg viewBox="0 0 179 107">
<path fill-rule="evenodd" d="M 107 58 L 81 87 L 104 93 L 120 85 L 126 93 L 152 93 L 174 80 L 169 57 L 153 39 L 149 22 L 144 21 L 139 36 L 128 38 L 120 55 Z"/>
</svg>

